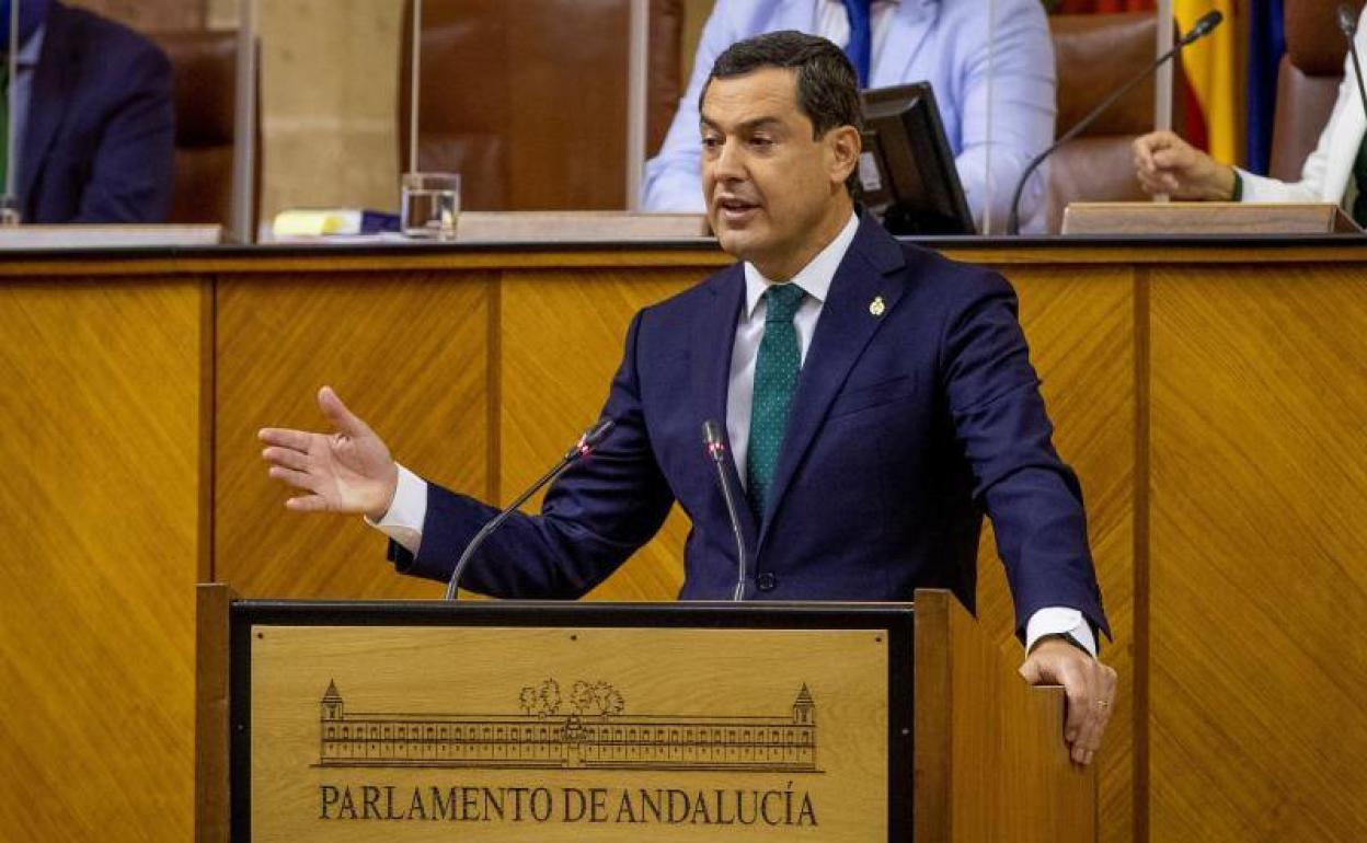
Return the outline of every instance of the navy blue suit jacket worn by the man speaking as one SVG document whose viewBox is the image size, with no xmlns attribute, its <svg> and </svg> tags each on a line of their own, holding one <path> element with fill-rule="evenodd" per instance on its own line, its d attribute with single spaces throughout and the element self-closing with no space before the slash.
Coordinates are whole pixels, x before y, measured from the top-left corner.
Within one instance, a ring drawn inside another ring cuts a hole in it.
<svg viewBox="0 0 1367 843">
<path fill-rule="evenodd" d="M 636 316 L 603 409 L 617 428 L 550 489 L 541 515 L 489 537 L 462 585 L 578 597 L 677 500 L 693 522 L 679 597 L 730 597 L 735 542 L 701 426 L 726 417 L 744 295 L 735 264 Z M 740 507 L 746 597 L 905 601 L 945 588 L 972 608 L 986 508 L 1018 624 L 1059 605 L 1105 630 L 1081 490 L 1050 433 L 1006 280 L 902 245 L 865 216 L 798 376 L 768 511 L 756 523 Z M 396 545 L 391 556 L 446 578 L 491 515 L 433 484 L 417 557 Z"/>
</svg>

